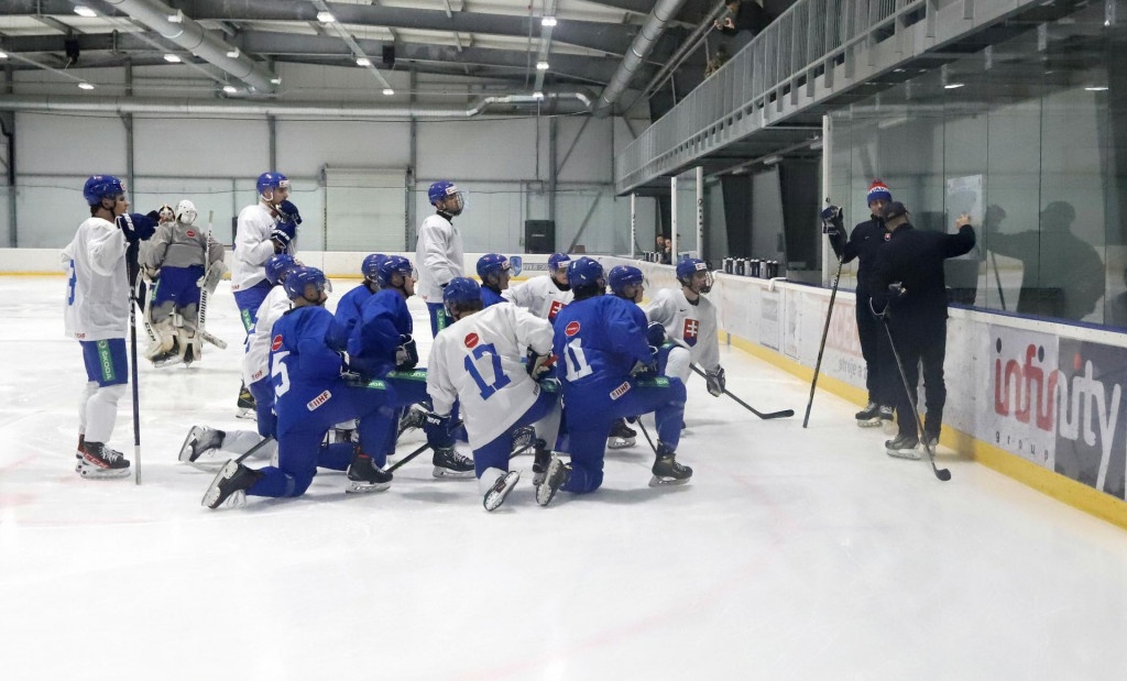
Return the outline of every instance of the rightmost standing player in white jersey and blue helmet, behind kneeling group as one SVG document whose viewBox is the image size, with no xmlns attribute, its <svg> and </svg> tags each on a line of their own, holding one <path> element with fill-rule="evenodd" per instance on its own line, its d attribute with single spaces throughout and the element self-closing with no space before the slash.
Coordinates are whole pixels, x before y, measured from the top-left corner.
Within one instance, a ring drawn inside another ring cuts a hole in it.
<svg viewBox="0 0 1127 681">
<path fill-rule="evenodd" d="M 418 264 L 419 298 L 431 312 L 431 335 L 437 336 L 450 324 L 443 309 L 442 290 L 450 280 L 465 275 L 462 235 L 454 227 L 454 218 L 465 207 L 465 196 L 453 183 L 436 182 L 427 191 L 427 197 L 437 213 L 419 225 L 415 262 Z"/>
</svg>

